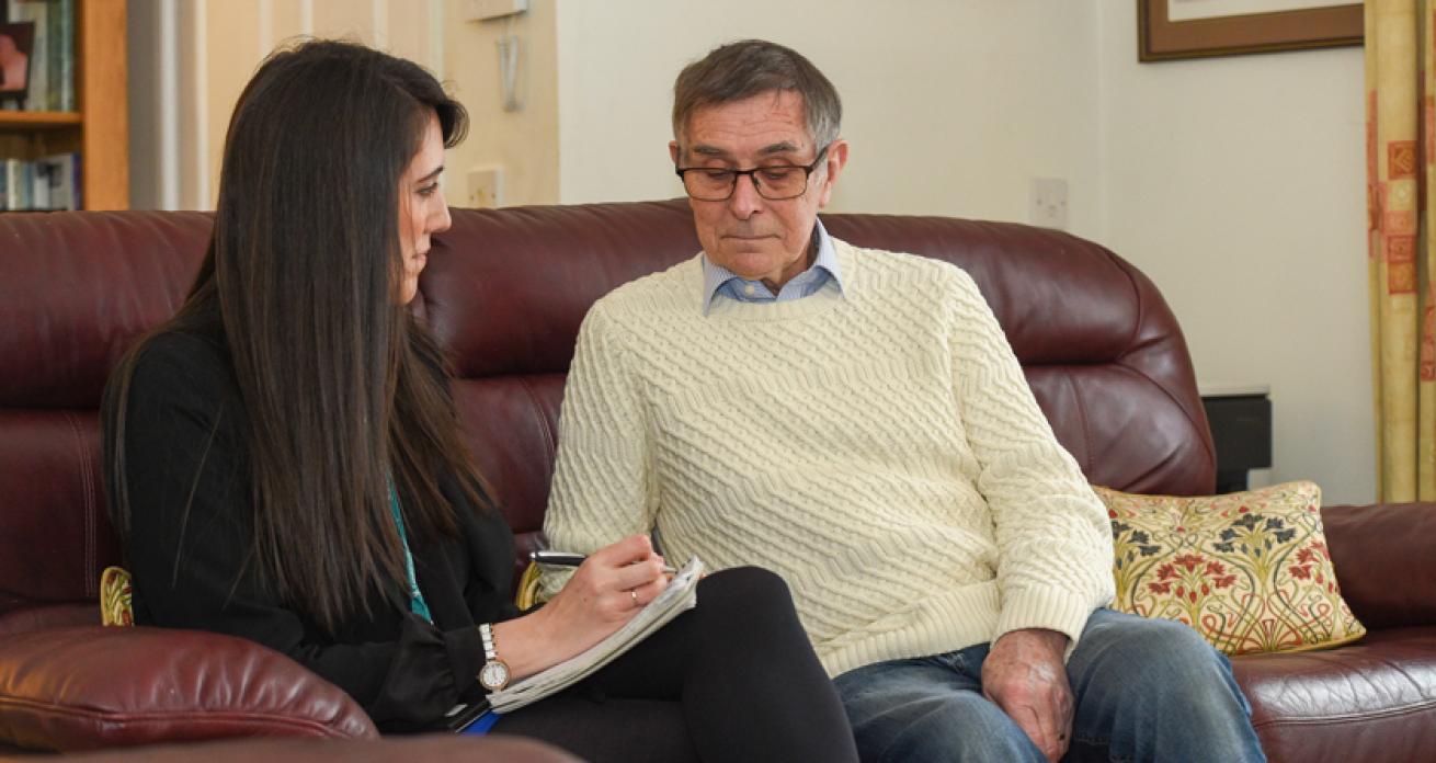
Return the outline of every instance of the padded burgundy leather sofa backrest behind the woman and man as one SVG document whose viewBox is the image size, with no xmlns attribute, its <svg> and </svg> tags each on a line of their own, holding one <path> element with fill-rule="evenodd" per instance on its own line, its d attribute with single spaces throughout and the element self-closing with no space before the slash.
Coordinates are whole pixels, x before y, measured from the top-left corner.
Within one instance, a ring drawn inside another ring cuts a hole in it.
<svg viewBox="0 0 1436 763">
<path fill-rule="evenodd" d="M 113 364 L 187 292 L 201 213 L 0 216 L 0 632 L 93 622 L 119 563 L 98 405 Z M 1144 493 L 1213 484 L 1180 329 L 1156 287 L 1060 231 L 939 217 L 824 216 L 859 246 L 956 263 L 976 279 L 1058 440 L 1090 480 Z M 457 371 L 472 454 L 520 553 L 538 530 L 579 323 L 615 286 L 698 251 L 684 201 L 454 210 L 416 309 Z"/>
</svg>

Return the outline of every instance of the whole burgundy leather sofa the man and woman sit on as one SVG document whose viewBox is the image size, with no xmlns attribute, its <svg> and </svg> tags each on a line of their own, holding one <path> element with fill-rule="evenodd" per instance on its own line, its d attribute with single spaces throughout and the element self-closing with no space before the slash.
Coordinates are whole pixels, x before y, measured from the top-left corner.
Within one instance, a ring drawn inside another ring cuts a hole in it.
<svg viewBox="0 0 1436 763">
<path fill-rule="evenodd" d="M 1018 224 L 824 221 L 856 244 L 965 267 L 1094 483 L 1212 490 L 1212 443 L 1180 329 L 1116 254 Z M 99 570 L 119 563 L 101 484 L 101 389 L 128 343 L 180 303 L 208 230 L 198 213 L 0 216 L 0 741 L 78 750 L 375 737 L 360 708 L 277 654 L 217 635 L 96 625 Z M 455 210 L 454 227 L 434 239 L 416 309 L 449 349 L 468 443 L 521 555 L 541 542 L 584 312 L 696 250 L 681 201 Z M 1278 762 L 1436 760 L 1436 506 L 1337 506 L 1324 516 L 1343 591 L 1370 635 L 1235 660 L 1252 721 Z"/>
</svg>

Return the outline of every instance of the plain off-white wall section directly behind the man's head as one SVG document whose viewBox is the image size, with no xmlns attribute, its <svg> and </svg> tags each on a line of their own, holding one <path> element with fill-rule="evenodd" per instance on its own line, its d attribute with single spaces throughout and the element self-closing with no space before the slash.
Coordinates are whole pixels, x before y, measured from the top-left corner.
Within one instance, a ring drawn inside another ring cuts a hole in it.
<svg viewBox="0 0 1436 763">
<path fill-rule="evenodd" d="M 559 3 L 560 200 L 681 195 L 668 158 L 678 70 L 742 37 L 788 45 L 843 96 L 852 142 L 830 210 L 1027 220 L 1061 177 L 1070 230 L 1099 233 L 1093 1 Z"/>
</svg>

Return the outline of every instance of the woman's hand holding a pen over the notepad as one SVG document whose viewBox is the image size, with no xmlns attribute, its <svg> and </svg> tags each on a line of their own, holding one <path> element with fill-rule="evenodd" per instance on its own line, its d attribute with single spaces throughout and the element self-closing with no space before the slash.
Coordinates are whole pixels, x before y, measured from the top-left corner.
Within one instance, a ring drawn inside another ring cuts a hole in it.
<svg viewBox="0 0 1436 763">
<path fill-rule="evenodd" d="M 646 535 L 593 552 L 543 608 L 494 625 L 498 658 L 523 678 L 603 641 L 663 591 L 663 566 Z"/>
</svg>

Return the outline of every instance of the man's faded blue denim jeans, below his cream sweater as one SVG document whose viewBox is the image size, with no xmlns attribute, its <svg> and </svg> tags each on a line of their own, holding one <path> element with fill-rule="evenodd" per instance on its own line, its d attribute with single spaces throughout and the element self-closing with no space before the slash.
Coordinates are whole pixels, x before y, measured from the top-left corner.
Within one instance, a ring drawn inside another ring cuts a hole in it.
<svg viewBox="0 0 1436 763">
<path fill-rule="evenodd" d="M 988 644 L 864 665 L 834 680 L 864 762 L 1043 762 L 982 695 Z M 1267 760 L 1226 655 L 1179 622 L 1110 609 L 1067 661 L 1076 717 L 1064 762 Z"/>
</svg>

